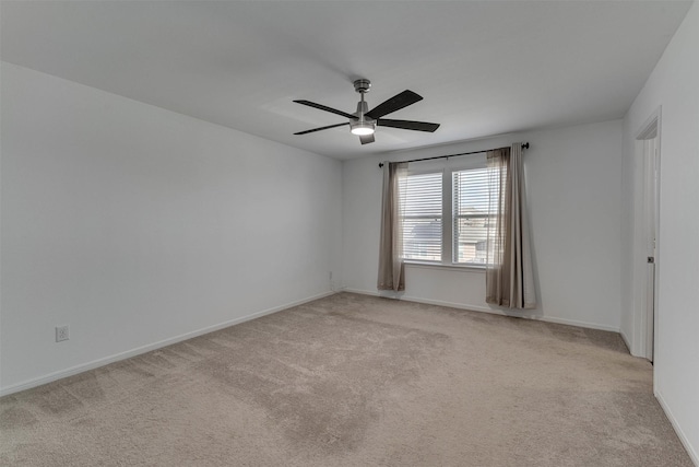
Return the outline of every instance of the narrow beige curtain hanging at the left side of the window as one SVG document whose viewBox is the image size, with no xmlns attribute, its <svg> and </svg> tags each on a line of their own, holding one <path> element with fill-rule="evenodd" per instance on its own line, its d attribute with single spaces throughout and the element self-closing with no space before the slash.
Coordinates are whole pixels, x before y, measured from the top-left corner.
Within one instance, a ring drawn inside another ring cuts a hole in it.
<svg viewBox="0 0 699 467">
<path fill-rule="evenodd" d="M 405 290 L 400 191 L 401 187 L 405 187 L 406 178 L 407 162 L 383 164 L 381 243 L 379 245 L 379 279 L 377 281 L 379 290 Z"/>
</svg>

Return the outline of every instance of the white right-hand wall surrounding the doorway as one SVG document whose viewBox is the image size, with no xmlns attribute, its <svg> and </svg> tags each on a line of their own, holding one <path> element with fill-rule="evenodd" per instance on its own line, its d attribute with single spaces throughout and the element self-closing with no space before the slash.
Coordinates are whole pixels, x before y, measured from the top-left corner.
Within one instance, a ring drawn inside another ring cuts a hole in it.
<svg viewBox="0 0 699 467">
<path fill-rule="evenodd" d="M 639 270 L 632 245 L 642 167 L 635 138 L 661 109 L 655 395 L 699 465 L 699 5 L 695 2 L 624 121 L 625 282 L 623 330 L 633 335 Z M 642 278 L 641 278 L 642 280 Z"/>
</svg>

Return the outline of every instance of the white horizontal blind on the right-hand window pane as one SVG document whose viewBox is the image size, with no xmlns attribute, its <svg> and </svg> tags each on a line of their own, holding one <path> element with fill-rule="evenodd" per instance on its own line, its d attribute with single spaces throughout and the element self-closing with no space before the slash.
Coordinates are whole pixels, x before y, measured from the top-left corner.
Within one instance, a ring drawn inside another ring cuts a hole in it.
<svg viewBox="0 0 699 467">
<path fill-rule="evenodd" d="M 452 173 L 452 225 L 453 261 L 459 264 L 486 262 L 486 238 L 489 222 L 495 222 L 488 212 L 490 191 L 497 194 L 499 186 L 488 186 L 486 167 L 470 168 Z"/>
</svg>

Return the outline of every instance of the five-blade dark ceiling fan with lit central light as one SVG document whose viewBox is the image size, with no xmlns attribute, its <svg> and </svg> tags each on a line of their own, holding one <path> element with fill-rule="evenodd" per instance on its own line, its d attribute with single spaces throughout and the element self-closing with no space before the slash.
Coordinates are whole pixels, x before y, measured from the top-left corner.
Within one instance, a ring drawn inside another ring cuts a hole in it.
<svg viewBox="0 0 699 467">
<path fill-rule="evenodd" d="M 437 128 L 439 128 L 439 124 L 429 124 L 427 121 L 391 120 L 388 118 L 382 118 L 384 115 L 391 114 L 395 110 L 400 110 L 403 107 L 407 107 L 408 105 L 415 104 L 416 102 L 423 100 L 420 95 L 410 90 L 405 90 L 402 93 L 396 94 L 388 101 L 377 105 L 371 110 L 368 110 L 369 107 L 366 101 L 364 101 L 364 94 L 369 92 L 369 87 L 371 87 L 371 82 L 369 80 L 360 79 L 354 82 L 354 90 L 362 94 L 362 101 L 357 103 L 357 112 L 355 112 L 354 114 L 348 114 L 346 112 L 337 110 L 335 108 L 328 107 L 321 104 L 316 104 L 315 102 L 310 101 L 294 101 L 297 104 L 308 105 L 309 107 L 315 107 L 321 110 L 330 112 L 332 114 L 342 115 L 343 117 L 350 119 L 350 121 L 346 121 L 344 124 L 313 128 L 311 130 L 299 131 L 294 135 L 307 135 L 315 131 L 327 130 L 330 128 L 343 127 L 345 125 L 348 125 L 350 131 L 352 131 L 353 135 L 357 135 L 359 137 L 359 141 L 362 141 L 362 144 L 367 144 L 374 142 L 374 131 L 377 126 L 429 132 L 434 132 L 435 130 L 437 130 Z"/>
</svg>

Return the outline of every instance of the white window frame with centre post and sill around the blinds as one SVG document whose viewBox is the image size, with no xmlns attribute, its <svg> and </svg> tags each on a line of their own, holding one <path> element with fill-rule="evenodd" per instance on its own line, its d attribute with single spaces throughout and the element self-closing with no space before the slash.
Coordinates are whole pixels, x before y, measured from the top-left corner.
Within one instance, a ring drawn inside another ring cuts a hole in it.
<svg viewBox="0 0 699 467">
<path fill-rule="evenodd" d="M 442 231 L 441 231 L 441 260 L 418 260 L 405 259 L 408 265 L 424 265 L 429 267 L 447 267 L 459 269 L 485 270 L 485 264 L 479 262 L 455 262 L 454 261 L 454 232 L 453 232 L 453 173 L 473 168 L 485 168 L 487 166 L 486 153 L 476 153 L 448 161 L 434 161 L 415 164 L 416 168 L 408 168 L 407 176 L 428 173 L 442 173 Z"/>
</svg>

